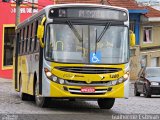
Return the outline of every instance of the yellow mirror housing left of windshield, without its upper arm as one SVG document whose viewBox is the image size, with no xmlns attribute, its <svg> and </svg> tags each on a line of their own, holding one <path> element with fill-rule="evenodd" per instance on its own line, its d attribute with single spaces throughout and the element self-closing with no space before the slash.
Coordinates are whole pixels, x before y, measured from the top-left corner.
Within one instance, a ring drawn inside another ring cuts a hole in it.
<svg viewBox="0 0 160 120">
<path fill-rule="evenodd" d="M 40 46 L 44 48 L 44 43 L 42 41 L 44 35 L 44 26 L 43 25 L 38 25 L 38 30 L 37 30 L 37 38 L 39 39 Z"/>
</svg>

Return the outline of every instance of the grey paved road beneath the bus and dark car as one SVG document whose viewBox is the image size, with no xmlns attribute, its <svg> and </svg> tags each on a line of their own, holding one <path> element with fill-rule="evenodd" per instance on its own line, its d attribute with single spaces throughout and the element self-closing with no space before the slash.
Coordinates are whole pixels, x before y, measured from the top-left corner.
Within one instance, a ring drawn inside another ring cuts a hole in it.
<svg viewBox="0 0 160 120">
<path fill-rule="evenodd" d="M 33 101 L 21 101 L 12 83 L 0 79 L 0 118 L 58 119 L 58 120 L 107 120 L 119 114 L 160 114 L 160 96 L 134 97 L 133 85 L 129 99 L 116 99 L 111 110 L 99 109 L 96 101 L 53 100 L 48 108 L 39 108 Z M 8 118 L 7 118 L 8 117 Z"/>
</svg>

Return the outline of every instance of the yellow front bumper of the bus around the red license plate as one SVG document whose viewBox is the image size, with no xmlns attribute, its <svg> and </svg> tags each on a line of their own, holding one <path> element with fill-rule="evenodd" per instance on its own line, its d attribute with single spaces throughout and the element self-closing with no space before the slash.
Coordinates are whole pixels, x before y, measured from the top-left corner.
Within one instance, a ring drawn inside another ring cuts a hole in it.
<svg viewBox="0 0 160 120">
<path fill-rule="evenodd" d="M 91 88 L 91 92 L 82 91 L 83 88 Z M 126 89 L 127 88 L 127 89 Z M 92 91 L 92 90 L 95 91 Z M 128 98 L 129 80 L 115 86 L 91 87 L 91 86 L 67 86 L 50 82 L 50 96 L 54 98 Z"/>
</svg>

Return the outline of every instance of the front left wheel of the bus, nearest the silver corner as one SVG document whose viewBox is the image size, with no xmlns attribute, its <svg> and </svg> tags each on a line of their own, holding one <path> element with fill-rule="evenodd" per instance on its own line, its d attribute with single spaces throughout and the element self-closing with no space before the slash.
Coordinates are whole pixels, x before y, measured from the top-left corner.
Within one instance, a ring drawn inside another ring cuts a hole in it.
<svg viewBox="0 0 160 120">
<path fill-rule="evenodd" d="M 36 82 L 35 84 L 35 87 L 34 87 L 34 93 L 35 93 L 35 102 L 36 102 L 36 105 L 39 106 L 39 107 L 47 107 L 48 105 L 48 98 L 46 97 L 42 97 L 39 95 L 39 85 L 38 85 L 38 82 Z"/>
</svg>

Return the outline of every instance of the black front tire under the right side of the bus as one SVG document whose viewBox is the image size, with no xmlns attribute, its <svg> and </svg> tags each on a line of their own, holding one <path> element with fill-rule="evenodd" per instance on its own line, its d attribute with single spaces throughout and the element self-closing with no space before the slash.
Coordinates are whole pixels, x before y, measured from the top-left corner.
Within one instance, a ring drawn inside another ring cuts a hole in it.
<svg viewBox="0 0 160 120">
<path fill-rule="evenodd" d="M 100 109 L 111 109 L 114 105 L 115 98 L 101 98 L 97 102 Z"/>
</svg>

